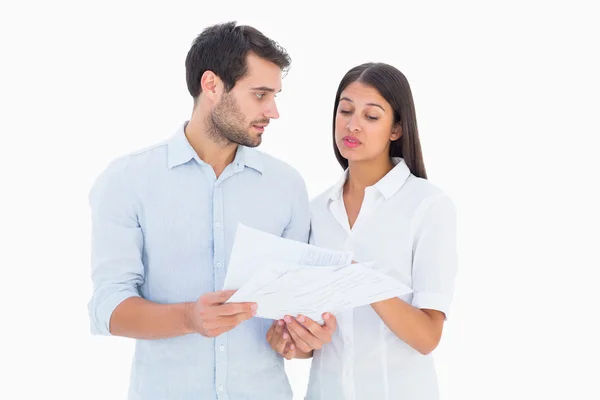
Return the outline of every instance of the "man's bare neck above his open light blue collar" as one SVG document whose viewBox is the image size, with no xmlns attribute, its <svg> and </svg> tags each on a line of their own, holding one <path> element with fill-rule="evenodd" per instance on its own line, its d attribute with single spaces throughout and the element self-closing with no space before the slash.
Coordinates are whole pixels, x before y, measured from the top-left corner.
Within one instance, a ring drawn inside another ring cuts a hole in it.
<svg viewBox="0 0 600 400">
<path fill-rule="evenodd" d="M 219 177 L 235 159 L 238 145 L 229 141 L 216 142 L 204 121 L 199 115 L 192 115 L 185 127 L 185 136 L 198 157 L 210 165 Z"/>
</svg>

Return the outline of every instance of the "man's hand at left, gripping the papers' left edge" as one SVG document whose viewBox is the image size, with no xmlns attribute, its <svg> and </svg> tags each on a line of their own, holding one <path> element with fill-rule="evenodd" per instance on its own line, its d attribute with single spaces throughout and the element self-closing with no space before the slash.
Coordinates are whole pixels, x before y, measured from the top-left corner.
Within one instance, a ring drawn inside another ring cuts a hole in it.
<svg viewBox="0 0 600 400">
<path fill-rule="evenodd" d="M 228 332 L 256 315 L 256 303 L 224 304 L 235 290 L 206 293 L 187 312 L 190 327 L 205 337 L 216 337 Z"/>
</svg>

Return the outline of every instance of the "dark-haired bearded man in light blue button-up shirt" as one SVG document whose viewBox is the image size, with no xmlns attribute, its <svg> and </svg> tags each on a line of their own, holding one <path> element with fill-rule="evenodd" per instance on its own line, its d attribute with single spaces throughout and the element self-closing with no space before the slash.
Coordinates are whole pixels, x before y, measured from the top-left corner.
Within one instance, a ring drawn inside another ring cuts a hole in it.
<svg viewBox="0 0 600 400">
<path fill-rule="evenodd" d="M 308 238 L 304 181 L 253 149 L 279 117 L 289 65 L 252 27 L 205 29 L 185 62 L 190 120 L 113 161 L 90 191 L 91 329 L 137 339 L 130 399 L 292 398 L 266 340 L 273 321 L 220 290 L 238 223 Z"/>
</svg>

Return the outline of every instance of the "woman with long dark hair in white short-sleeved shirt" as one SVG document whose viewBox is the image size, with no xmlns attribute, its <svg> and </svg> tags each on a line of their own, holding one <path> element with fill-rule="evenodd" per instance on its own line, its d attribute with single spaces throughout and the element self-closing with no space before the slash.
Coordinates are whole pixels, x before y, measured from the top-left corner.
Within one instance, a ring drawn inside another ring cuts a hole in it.
<svg viewBox="0 0 600 400">
<path fill-rule="evenodd" d="M 286 317 L 267 338 L 286 358 L 312 355 L 309 400 L 437 399 L 430 353 L 457 270 L 453 203 L 427 181 L 410 86 L 396 68 L 348 71 L 333 114 L 345 172 L 312 202 L 311 243 L 375 261 L 413 292 L 329 317 L 329 326 Z"/>
</svg>

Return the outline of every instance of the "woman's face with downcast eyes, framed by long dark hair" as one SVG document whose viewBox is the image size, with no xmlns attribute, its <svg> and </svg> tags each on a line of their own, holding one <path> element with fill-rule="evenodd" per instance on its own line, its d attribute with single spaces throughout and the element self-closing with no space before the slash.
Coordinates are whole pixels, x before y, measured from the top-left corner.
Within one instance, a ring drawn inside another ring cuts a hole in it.
<svg viewBox="0 0 600 400">
<path fill-rule="evenodd" d="M 335 142 L 350 164 L 389 157 L 390 141 L 401 135 L 392 107 L 375 88 L 353 82 L 342 91 L 335 116 Z"/>
</svg>

